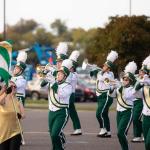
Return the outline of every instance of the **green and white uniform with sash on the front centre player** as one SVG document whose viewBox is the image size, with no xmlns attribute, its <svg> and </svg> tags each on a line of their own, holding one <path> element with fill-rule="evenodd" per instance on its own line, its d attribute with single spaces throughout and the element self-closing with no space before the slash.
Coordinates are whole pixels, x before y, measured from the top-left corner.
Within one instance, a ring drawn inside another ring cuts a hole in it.
<svg viewBox="0 0 150 150">
<path fill-rule="evenodd" d="M 49 86 L 49 132 L 53 150 L 64 150 L 65 136 L 63 128 L 69 117 L 69 99 L 72 93 L 70 83 L 54 83 Z"/>
</svg>

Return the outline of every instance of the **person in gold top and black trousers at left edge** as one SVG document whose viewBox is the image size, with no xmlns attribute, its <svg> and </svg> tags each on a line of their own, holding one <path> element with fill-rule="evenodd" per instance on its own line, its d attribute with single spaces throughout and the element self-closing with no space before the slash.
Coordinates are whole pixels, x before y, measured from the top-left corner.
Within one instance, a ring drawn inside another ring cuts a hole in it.
<svg viewBox="0 0 150 150">
<path fill-rule="evenodd" d="M 16 98 L 16 85 L 2 86 L 0 91 L 0 150 L 20 150 L 21 129 L 18 118 L 24 116 Z M 14 107 L 16 106 L 16 107 Z"/>
</svg>

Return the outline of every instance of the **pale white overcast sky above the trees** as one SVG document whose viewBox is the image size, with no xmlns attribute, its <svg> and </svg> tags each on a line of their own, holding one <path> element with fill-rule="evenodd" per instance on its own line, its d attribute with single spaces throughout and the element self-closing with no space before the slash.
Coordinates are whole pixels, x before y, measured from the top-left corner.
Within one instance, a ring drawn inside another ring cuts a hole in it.
<svg viewBox="0 0 150 150">
<path fill-rule="evenodd" d="M 6 23 L 34 19 L 49 29 L 57 18 L 69 28 L 104 27 L 110 16 L 129 15 L 130 0 L 5 0 Z M 0 32 L 3 31 L 3 2 L 0 0 Z M 132 15 L 150 16 L 150 0 L 131 0 Z"/>
</svg>

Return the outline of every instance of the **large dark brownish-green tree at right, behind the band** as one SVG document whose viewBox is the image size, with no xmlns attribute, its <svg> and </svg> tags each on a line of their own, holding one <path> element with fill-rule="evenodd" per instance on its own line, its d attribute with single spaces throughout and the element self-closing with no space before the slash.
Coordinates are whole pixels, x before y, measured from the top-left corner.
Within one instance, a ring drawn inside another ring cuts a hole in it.
<svg viewBox="0 0 150 150">
<path fill-rule="evenodd" d="M 104 63 L 113 49 L 119 53 L 119 69 L 132 60 L 140 66 L 150 53 L 150 21 L 146 16 L 110 17 L 106 27 L 98 28 L 90 41 L 86 54 L 91 62 Z"/>
</svg>

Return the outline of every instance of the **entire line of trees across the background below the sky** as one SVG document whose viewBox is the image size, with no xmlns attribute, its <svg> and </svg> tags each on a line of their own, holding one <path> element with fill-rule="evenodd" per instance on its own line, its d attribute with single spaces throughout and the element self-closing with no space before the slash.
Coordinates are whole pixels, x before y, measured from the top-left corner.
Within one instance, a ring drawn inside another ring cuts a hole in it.
<svg viewBox="0 0 150 150">
<path fill-rule="evenodd" d="M 116 64 L 119 70 L 134 60 L 139 67 L 150 54 L 150 20 L 147 16 L 110 17 L 104 28 L 68 29 L 66 23 L 56 19 L 50 25 L 52 32 L 39 26 L 34 20 L 21 19 L 13 26 L 7 26 L 7 38 L 15 41 L 14 49 L 32 46 L 35 42 L 56 47 L 60 41 L 69 43 L 69 54 L 74 49 L 81 52 L 80 63 L 88 58 L 90 63 L 102 66 L 110 50 L 119 53 Z M 56 34 L 55 34 L 56 33 Z M 30 54 L 29 61 L 35 58 Z"/>
</svg>

